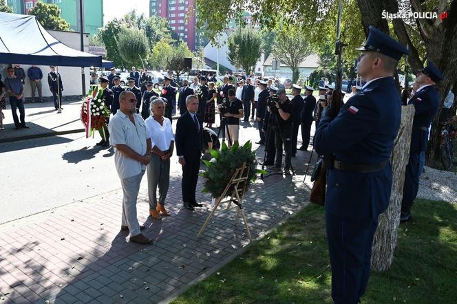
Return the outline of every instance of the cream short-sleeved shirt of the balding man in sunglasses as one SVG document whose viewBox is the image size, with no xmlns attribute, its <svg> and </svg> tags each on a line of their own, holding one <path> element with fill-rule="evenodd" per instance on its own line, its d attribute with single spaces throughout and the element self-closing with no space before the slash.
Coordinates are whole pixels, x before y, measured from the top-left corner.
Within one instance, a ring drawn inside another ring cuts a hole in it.
<svg viewBox="0 0 457 304">
<path fill-rule="evenodd" d="M 135 124 L 129 120 L 129 116 L 125 115 L 123 111 L 117 111 L 116 115 L 109 120 L 109 144 L 114 147 L 116 147 L 116 144 L 125 144 L 136 153 L 145 155 L 147 152 L 146 140 L 149 138 L 149 134 L 142 117 L 137 113 L 133 115 Z M 116 170 L 121 180 L 138 175 L 142 170 L 146 170 L 144 164 L 127 158 L 118 149 L 114 153 L 114 164 L 116 164 Z"/>
</svg>

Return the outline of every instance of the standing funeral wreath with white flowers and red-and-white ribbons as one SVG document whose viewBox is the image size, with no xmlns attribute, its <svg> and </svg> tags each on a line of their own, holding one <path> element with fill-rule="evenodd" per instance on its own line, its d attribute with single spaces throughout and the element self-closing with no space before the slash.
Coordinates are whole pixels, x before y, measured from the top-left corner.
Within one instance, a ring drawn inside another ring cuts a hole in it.
<svg viewBox="0 0 457 304">
<path fill-rule="evenodd" d="M 81 107 L 81 122 L 85 127 L 86 138 L 94 137 L 94 131 L 98 131 L 103 140 L 107 140 L 105 126 L 111 112 L 105 105 L 105 100 L 101 99 L 102 96 L 103 89 L 91 87 Z"/>
</svg>

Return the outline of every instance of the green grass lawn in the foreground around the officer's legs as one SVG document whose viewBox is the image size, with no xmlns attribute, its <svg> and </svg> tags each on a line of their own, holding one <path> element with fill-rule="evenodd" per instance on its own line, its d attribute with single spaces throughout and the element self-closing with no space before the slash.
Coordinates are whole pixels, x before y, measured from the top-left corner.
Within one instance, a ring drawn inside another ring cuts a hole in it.
<svg viewBox="0 0 457 304">
<path fill-rule="evenodd" d="M 363 303 L 457 303 L 457 205 L 417 199 Z M 323 208 L 310 205 L 172 303 L 332 303 Z"/>
</svg>

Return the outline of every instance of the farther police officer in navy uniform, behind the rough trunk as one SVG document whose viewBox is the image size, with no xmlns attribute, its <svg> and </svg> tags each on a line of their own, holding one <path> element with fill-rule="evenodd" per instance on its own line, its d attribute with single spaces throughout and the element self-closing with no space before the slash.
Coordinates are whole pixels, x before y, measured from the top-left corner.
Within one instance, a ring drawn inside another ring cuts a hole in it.
<svg viewBox="0 0 457 304">
<path fill-rule="evenodd" d="M 436 90 L 436 83 L 443 78 L 432 61 L 427 61 L 425 69 L 419 71 L 416 76 L 416 84 L 419 88 L 408 102 L 408 104 L 414 105 L 416 111 L 412 122 L 410 160 L 406 166 L 401 201 L 400 221 L 403 223 L 411 219 L 411 207 L 419 189 L 421 154 L 425 157 L 429 127 L 440 106 L 440 95 Z"/>
</svg>

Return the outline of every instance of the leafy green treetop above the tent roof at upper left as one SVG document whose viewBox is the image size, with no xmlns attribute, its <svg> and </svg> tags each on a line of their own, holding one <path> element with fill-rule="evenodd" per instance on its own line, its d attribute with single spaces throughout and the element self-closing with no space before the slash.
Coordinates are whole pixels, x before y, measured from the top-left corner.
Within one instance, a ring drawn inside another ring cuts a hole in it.
<svg viewBox="0 0 457 304">
<path fill-rule="evenodd" d="M 47 30 L 70 30 L 70 23 L 61 17 L 61 10 L 55 4 L 37 1 L 29 14 L 36 16 L 39 23 Z"/>
</svg>

